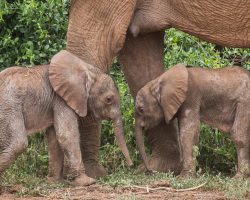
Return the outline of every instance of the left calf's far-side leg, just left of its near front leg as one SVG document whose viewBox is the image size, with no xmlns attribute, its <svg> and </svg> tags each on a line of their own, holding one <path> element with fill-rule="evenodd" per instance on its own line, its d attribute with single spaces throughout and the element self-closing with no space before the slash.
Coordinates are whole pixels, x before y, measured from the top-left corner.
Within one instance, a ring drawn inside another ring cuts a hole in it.
<svg viewBox="0 0 250 200">
<path fill-rule="evenodd" d="M 49 180 L 52 182 L 63 180 L 64 154 L 56 139 L 54 127 L 46 130 L 49 149 Z"/>
</svg>

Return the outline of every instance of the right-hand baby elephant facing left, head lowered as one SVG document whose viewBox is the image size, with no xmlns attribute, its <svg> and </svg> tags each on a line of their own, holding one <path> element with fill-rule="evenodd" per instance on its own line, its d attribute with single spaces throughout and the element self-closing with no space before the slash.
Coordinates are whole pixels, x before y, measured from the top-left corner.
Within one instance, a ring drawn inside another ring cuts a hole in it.
<svg viewBox="0 0 250 200">
<path fill-rule="evenodd" d="M 238 154 L 236 177 L 250 175 L 250 73 L 240 67 L 186 68 L 178 64 L 146 84 L 136 96 L 136 140 L 145 166 L 142 129 L 178 119 L 183 151 L 181 175 L 195 175 L 193 147 L 200 123 L 230 132 Z M 147 167 L 148 170 L 150 170 Z"/>
</svg>

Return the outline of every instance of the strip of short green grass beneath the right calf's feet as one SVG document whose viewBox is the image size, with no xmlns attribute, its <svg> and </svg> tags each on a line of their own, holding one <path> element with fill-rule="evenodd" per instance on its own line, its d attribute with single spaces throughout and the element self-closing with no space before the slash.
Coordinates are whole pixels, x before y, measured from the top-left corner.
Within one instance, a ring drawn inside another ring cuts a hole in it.
<svg viewBox="0 0 250 200">
<path fill-rule="evenodd" d="M 202 183 L 206 183 L 203 187 L 205 191 L 223 192 L 226 197 L 244 199 L 247 192 L 250 192 L 250 179 L 240 180 L 222 175 L 203 174 L 197 178 L 182 179 L 173 176 L 171 173 L 154 173 L 153 175 L 137 174 L 133 170 L 117 171 L 101 180 L 100 184 L 112 187 L 146 185 L 150 182 L 168 180 L 171 187 L 175 189 L 192 188 Z"/>
</svg>

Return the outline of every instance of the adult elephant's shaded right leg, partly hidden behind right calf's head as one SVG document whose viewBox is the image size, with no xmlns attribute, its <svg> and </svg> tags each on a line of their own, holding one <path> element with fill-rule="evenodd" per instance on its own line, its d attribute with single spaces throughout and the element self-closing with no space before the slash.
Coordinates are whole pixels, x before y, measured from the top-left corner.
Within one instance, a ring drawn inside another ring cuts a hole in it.
<svg viewBox="0 0 250 200">
<path fill-rule="evenodd" d="M 129 33 L 127 35 L 119 58 L 134 97 L 142 86 L 164 72 L 163 37 L 163 32 L 136 38 Z M 177 130 L 176 121 L 168 125 L 162 121 L 160 125 L 146 133 L 152 147 L 149 158 L 151 169 L 180 173 L 181 151 Z M 144 165 L 140 165 L 139 169 L 145 170 Z"/>
</svg>

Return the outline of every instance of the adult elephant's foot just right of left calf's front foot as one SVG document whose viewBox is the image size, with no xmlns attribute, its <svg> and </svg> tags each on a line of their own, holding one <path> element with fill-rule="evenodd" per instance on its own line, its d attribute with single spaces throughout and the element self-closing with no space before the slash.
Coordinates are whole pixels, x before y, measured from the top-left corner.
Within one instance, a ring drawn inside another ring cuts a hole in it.
<svg viewBox="0 0 250 200">
<path fill-rule="evenodd" d="M 106 169 L 98 162 L 84 162 L 84 167 L 89 177 L 98 179 L 108 175 Z"/>
</svg>

